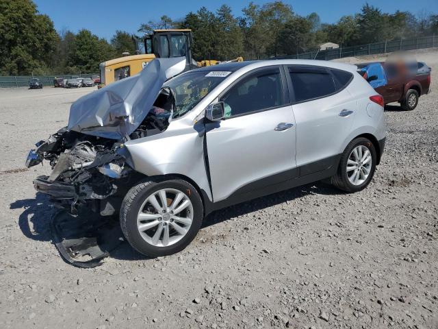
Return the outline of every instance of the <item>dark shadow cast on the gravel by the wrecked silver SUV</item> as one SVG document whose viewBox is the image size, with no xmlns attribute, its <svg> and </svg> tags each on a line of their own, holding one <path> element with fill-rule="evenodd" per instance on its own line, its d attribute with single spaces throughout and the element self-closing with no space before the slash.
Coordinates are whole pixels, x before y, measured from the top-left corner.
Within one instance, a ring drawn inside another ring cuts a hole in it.
<svg viewBox="0 0 438 329">
<path fill-rule="evenodd" d="M 284 202 L 290 202 L 294 199 L 299 199 L 311 194 L 322 195 L 335 195 L 343 193 L 330 184 L 323 182 L 316 182 L 299 186 L 296 188 L 274 193 L 266 197 L 259 197 L 248 202 L 243 202 L 235 206 L 230 206 L 221 210 L 217 210 L 208 215 L 203 222 L 203 228 L 222 223 L 228 219 L 246 215 L 250 212 L 255 212 L 264 208 L 269 208 Z M 49 197 L 42 193 L 36 193 L 35 199 L 23 199 L 17 200 L 10 204 L 11 209 L 21 209 L 21 213 L 18 219 L 18 226 L 21 232 L 28 238 L 35 241 L 52 241 L 53 235 L 51 232 L 51 221 L 53 215 L 57 212 L 57 209 L 50 206 Z M 118 218 L 108 218 L 109 221 L 118 221 Z M 114 222 L 113 222 L 114 223 Z M 120 230 L 120 232 L 119 232 Z M 120 236 L 123 236 L 120 226 L 118 226 L 117 232 L 114 233 L 114 243 L 117 242 Z M 110 257 L 116 260 L 148 260 L 146 256 L 143 256 L 139 252 L 136 252 L 127 241 L 123 243 L 117 243 L 115 249 L 110 250 Z M 68 263 L 68 262 L 67 262 Z"/>
</svg>

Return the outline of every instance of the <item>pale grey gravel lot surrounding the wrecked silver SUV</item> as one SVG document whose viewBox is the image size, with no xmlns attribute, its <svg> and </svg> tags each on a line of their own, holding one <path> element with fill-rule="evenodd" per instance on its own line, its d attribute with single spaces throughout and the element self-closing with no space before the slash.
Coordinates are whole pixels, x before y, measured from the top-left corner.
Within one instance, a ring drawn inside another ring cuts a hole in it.
<svg viewBox="0 0 438 329">
<path fill-rule="evenodd" d="M 438 328 L 438 51 L 433 91 L 387 106 L 372 184 L 318 183 L 209 216 L 183 252 L 126 243 L 78 269 L 51 243 L 53 209 L 24 169 L 90 88 L 0 90 L 0 328 Z"/>
</svg>

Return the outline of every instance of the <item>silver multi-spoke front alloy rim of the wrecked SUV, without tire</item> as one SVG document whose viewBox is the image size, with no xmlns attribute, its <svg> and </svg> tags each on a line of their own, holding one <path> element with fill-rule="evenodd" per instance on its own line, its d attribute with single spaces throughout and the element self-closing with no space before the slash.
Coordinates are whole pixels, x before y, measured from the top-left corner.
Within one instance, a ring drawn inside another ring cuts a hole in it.
<svg viewBox="0 0 438 329">
<path fill-rule="evenodd" d="M 175 188 L 163 188 L 143 202 L 137 228 L 147 243 L 167 247 L 183 239 L 192 221 L 193 205 L 189 197 Z"/>
</svg>

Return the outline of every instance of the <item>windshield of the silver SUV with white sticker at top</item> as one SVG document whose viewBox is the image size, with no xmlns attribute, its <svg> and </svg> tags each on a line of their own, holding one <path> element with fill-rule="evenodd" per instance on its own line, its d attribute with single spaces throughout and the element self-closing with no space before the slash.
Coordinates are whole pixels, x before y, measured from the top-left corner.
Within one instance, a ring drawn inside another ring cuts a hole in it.
<svg viewBox="0 0 438 329">
<path fill-rule="evenodd" d="M 192 71 L 166 82 L 163 87 L 170 88 L 175 95 L 173 117 L 181 117 L 192 110 L 230 73 L 228 71 Z"/>
</svg>

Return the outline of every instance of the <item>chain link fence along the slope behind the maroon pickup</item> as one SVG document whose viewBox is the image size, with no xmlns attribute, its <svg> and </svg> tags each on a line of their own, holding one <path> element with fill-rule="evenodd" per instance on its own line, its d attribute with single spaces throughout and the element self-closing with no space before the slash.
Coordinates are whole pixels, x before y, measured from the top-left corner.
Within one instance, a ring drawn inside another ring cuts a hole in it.
<svg viewBox="0 0 438 329">
<path fill-rule="evenodd" d="M 292 58 L 300 60 L 334 60 L 336 58 L 376 55 L 378 53 L 392 53 L 400 50 L 413 50 L 438 47 L 438 36 L 422 36 L 419 38 L 385 40 L 353 47 L 339 47 L 308 53 L 298 53 L 290 56 L 279 56 L 277 59 Z"/>
</svg>

